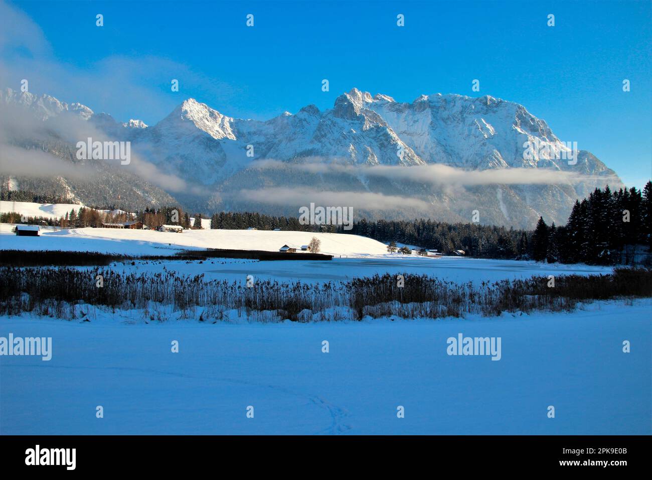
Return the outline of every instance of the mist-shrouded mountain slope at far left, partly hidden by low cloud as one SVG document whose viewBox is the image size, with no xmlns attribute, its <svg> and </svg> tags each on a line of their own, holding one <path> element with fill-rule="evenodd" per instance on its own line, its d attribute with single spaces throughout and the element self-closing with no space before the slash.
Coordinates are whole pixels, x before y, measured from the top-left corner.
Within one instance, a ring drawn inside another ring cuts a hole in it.
<svg viewBox="0 0 652 480">
<path fill-rule="evenodd" d="M 125 210 L 176 203 L 140 172 L 78 159 L 78 141 L 98 134 L 104 138 L 97 140 L 111 140 L 109 132 L 117 125 L 110 115 L 96 114 L 80 103 L 0 89 L 0 187 Z M 147 127 L 140 120 L 119 126 L 124 131 Z"/>
</svg>

